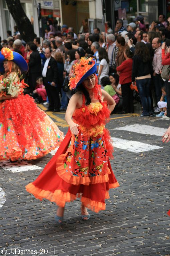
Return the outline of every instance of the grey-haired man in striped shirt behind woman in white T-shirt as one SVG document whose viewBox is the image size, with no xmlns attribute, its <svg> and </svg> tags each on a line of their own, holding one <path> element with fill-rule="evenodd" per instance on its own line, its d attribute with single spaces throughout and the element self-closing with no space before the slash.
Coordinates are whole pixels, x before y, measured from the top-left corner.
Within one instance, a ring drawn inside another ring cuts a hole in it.
<svg viewBox="0 0 170 256">
<path fill-rule="evenodd" d="M 106 36 L 107 43 L 109 45 L 108 49 L 108 57 L 109 57 L 109 73 L 116 72 L 116 58 L 118 53 L 118 47 L 115 44 L 115 36 L 114 34 L 108 34 Z"/>
</svg>

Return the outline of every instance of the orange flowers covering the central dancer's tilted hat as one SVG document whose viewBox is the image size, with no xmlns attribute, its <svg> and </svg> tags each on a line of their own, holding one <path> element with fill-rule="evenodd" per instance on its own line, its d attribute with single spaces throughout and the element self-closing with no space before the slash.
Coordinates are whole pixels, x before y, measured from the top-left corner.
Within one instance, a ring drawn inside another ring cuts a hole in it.
<svg viewBox="0 0 170 256">
<path fill-rule="evenodd" d="M 82 57 L 79 62 L 74 65 L 74 75 L 75 77 L 70 78 L 69 86 L 70 90 L 74 90 L 76 88 L 77 83 L 80 81 L 82 76 L 86 74 L 89 69 L 91 69 L 95 65 L 95 60 L 93 58 L 84 58 Z"/>
</svg>

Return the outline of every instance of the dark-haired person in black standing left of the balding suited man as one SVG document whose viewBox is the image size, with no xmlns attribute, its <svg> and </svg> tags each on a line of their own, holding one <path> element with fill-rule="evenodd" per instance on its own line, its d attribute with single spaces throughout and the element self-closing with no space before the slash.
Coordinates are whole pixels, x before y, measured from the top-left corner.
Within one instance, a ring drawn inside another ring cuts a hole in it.
<svg viewBox="0 0 170 256">
<path fill-rule="evenodd" d="M 31 44 L 30 49 L 32 50 L 32 53 L 30 54 L 30 61 L 28 63 L 28 84 L 30 86 L 30 92 L 32 93 L 36 86 L 37 77 L 41 76 L 41 57 L 35 44 Z"/>
</svg>

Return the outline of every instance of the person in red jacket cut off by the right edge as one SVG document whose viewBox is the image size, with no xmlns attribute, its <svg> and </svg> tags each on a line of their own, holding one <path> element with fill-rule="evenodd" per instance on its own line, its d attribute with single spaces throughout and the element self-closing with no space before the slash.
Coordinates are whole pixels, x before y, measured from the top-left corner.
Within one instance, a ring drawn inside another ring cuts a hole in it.
<svg viewBox="0 0 170 256">
<path fill-rule="evenodd" d="M 162 65 L 170 65 L 170 48 L 168 48 L 168 53 L 165 55 L 165 42 L 162 44 Z M 167 98 L 167 114 L 166 118 L 170 117 L 170 80 L 166 80 L 165 87 L 166 87 L 166 98 Z"/>
</svg>

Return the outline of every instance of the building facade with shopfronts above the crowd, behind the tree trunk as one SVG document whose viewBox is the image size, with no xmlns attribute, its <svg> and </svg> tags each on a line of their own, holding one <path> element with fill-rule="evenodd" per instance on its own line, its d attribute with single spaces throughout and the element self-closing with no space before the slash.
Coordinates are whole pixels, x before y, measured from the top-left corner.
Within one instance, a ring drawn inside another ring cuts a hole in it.
<svg viewBox="0 0 170 256">
<path fill-rule="evenodd" d="M 40 36 L 40 26 L 43 35 L 48 19 L 53 21 L 57 19 L 59 24 L 73 27 L 75 33 L 83 31 L 84 25 L 92 33 L 94 27 L 104 31 L 103 9 L 106 9 L 106 20 L 111 22 L 112 28 L 115 27 L 118 18 L 123 19 L 126 26 L 138 15 L 144 16 L 146 24 L 158 20 L 159 14 L 170 16 L 168 0 L 20 0 L 20 2 L 37 36 Z M 41 19 L 38 18 L 40 12 Z M 9 13 L 6 1 L 1 0 L 0 36 L 2 39 L 7 37 L 7 30 L 14 33 L 14 25 L 15 21 Z"/>
</svg>

